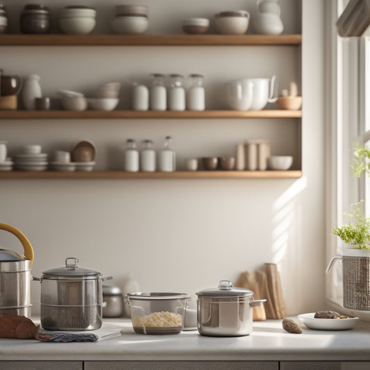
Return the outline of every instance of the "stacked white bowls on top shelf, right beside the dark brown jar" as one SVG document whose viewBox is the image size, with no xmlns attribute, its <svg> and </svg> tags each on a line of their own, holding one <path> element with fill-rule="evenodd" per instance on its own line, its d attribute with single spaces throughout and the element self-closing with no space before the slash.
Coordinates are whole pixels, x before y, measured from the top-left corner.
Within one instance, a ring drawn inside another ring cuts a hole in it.
<svg viewBox="0 0 370 370">
<path fill-rule="evenodd" d="M 62 33 L 86 35 L 96 24 L 96 9 L 88 6 L 66 6 L 59 15 Z"/>
</svg>

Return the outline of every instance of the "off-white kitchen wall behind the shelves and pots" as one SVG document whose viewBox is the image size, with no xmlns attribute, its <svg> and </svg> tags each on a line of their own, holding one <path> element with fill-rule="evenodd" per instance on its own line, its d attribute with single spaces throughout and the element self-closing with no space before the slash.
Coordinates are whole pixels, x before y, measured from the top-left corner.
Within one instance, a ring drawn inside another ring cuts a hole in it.
<svg viewBox="0 0 370 370">
<path fill-rule="evenodd" d="M 28 0 L 8 3 L 12 31 Z M 45 0 L 51 10 L 69 2 Z M 72 2 L 73 3 L 73 2 Z M 116 1 L 78 1 L 99 10 L 96 32 L 107 32 L 103 15 Z M 142 1 L 150 6 L 150 33 L 180 33 L 180 19 L 219 10 L 255 12 L 254 1 Z M 280 0 L 285 33 L 301 31 L 296 0 Z M 252 137 L 271 139 L 272 152 L 303 162 L 299 180 L 1 180 L 0 219 L 22 230 L 35 250 L 33 274 L 79 258 L 81 267 L 112 275 L 121 285 L 133 272 L 144 291 L 188 292 L 214 287 L 221 279 L 278 263 L 289 314 L 323 308 L 323 4 L 303 0 L 302 130 L 295 119 L 256 120 L 3 120 L 1 140 L 10 154 L 23 144 L 44 151 L 69 149 L 92 140 L 98 169 L 122 167 L 128 137 L 151 138 L 160 148 L 172 135 L 178 154 L 233 155 L 235 144 Z M 168 19 L 168 22 L 164 20 Z M 312 22 L 314 19 L 314 22 Z M 248 32 L 253 33 L 253 24 Z M 108 81 L 128 87 L 151 72 L 201 72 L 208 108 L 223 108 L 220 84 L 229 78 L 278 76 L 278 88 L 301 74 L 296 47 L 2 47 L 0 67 L 8 74 L 40 74 L 44 94 L 65 88 L 91 94 Z M 271 105 L 269 108 L 272 108 Z M 302 140 L 302 157 L 299 155 Z M 296 144 L 298 142 L 298 144 Z M 1 245 L 20 249 L 1 232 Z M 37 314 L 39 283 L 32 283 Z"/>
</svg>

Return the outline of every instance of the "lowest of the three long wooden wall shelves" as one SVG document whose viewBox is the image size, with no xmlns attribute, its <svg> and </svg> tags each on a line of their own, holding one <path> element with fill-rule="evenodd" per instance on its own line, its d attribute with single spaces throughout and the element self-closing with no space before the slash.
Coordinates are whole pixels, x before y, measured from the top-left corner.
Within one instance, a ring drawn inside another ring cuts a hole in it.
<svg viewBox="0 0 370 370">
<path fill-rule="evenodd" d="M 302 171 L 0 171 L 0 179 L 15 178 L 76 178 L 76 179 L 135 179 L 135 178 L 300 178 Z"/>
</svg>

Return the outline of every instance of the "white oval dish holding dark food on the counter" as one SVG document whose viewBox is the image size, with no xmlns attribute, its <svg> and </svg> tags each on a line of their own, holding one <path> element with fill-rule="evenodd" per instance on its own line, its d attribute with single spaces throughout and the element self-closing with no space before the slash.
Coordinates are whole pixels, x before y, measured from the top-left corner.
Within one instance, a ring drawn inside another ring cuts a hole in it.
<svg viewBox="0 0 370 370">
<path fill-rule="evenodd" d="M 349 330 L 358 322 L 358 317 L 349 319 L 315 319 L 314 312 L 298 314 L 298 319 L 313 330 Z"/>
</svg>

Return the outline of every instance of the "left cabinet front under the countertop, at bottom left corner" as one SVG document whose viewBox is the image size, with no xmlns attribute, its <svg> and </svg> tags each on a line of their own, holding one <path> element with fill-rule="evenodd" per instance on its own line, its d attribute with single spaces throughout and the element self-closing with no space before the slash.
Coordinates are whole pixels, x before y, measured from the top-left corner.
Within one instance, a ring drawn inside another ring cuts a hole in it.
<svg viewBox="0 0 370 370">
<path fill-rule="evenodd" d="M 0 361 L 0 370 L 83 370 L 82 361 Z"/>
</svg>

